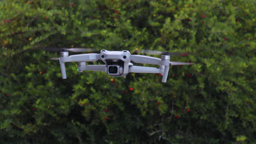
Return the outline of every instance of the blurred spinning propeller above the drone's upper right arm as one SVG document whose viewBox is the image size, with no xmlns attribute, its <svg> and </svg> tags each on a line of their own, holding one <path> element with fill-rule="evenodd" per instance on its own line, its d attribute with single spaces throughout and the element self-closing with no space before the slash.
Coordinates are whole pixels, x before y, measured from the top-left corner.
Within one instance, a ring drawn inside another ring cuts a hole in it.
<svg viewBox="0 0 256 144">
<path fill-rule="evenodd" d="M 170 56 L 187 56 L 188 52 L 162 52 L 162 51 L 153 51 L 153 50 L 137 50 L 136 52 L 146 53 L 149 55 L 170 55 Z"/>
</svg>

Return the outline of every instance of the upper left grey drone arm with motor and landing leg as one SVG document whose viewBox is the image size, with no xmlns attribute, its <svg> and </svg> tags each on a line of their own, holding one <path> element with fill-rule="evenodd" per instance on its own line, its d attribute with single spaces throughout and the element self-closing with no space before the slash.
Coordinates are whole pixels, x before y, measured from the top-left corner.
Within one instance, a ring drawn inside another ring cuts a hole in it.
<svg viewBox="0 0 256 144">
<path fill-rule="evenodd" d="M 60 61 L 62 79 L 67 79 L 65 62 L 95 62 L 95 61 L 98 61 L 99 59 L 100 59 L 100 54 L 98 53 L 68 56 L 68 52 L 61 52 L 61 57 L 59 58 L 59 61 Z"/>
</svg>

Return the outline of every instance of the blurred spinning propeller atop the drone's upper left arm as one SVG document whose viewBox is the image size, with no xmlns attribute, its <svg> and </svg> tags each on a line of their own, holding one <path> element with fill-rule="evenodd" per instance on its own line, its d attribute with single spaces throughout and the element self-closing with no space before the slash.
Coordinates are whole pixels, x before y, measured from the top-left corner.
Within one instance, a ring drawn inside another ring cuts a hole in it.
<svg viewBox="0 0 256 144">
<path fill-rule="evenodd" d="M 51 52 L 89 52 L 89 51 L 97 51 L 96 49 L 91 48 L 58 48 L 58 47 L 46 47 L 44 48 L 45 51 Z"/>
</svg>

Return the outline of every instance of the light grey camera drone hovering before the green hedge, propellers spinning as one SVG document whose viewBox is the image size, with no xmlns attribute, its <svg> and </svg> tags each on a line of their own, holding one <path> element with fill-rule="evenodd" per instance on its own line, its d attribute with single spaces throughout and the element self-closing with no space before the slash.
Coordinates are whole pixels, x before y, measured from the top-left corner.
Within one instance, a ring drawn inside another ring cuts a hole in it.
<svg viewBox="0 0 256 144">
<path fill-rule="evenodd" d="M 88 48 L 49 48 L 48 51 L 60 52 L 60 57 L 50 58 L 60 62 L 62 79 L 67 79 L 65 63 L 78 62 L 78 72 L 82 73 L 84 70 L 90 71 L 105 71 L 110 76 L 126 77 L 129 73 L 155 73 L 162 75 L 162 82 L 166 82 L 168 71 L 171 65 L 190 65 L 194 63 L 185 62 L 171 62 L 171 55 L 178 55 L 177 52 L 159 52 L 153 50 L 144 50 L 144 53 L 159 55 L 161 58 L 144 56 L 144 55 L 131 55 L 130 51 L 107 51 L 101 50 L 100 53 L 85 53 L 79 55 L 69 56 L 69 52 L 88 52 L 94 49 Z M 86 65 L 86 62 L 102 61 L 104 65 Z M 154 64 L 159 65 L 159 68 L 136 66 L 133 63 L 141 64 Z"/>
</svg>

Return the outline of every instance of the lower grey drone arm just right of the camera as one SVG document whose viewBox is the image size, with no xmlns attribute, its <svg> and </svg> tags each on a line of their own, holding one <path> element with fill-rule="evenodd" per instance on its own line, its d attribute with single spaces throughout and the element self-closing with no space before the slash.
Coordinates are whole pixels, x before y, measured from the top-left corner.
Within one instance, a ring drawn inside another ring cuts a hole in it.
<svg viewBox="0 0 256 144">
<path fill-rule="evenodd" d="M 152 73 L 161 74 L 162 70 L 153 67 L 130 66 L 129 73 Z"/>
</svg>

